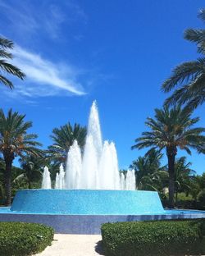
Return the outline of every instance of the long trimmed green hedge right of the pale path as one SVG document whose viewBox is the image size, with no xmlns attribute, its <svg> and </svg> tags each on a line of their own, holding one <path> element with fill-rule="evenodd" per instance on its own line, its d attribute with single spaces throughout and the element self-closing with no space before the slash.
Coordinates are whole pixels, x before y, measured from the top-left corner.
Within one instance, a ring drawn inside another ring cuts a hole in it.
<svg viewBox="0 0 205 256">
<path fill-rule="evenodd" d="M 205 254 L 205 219 L 103 224 L 107 256 Z"/>
</svg>

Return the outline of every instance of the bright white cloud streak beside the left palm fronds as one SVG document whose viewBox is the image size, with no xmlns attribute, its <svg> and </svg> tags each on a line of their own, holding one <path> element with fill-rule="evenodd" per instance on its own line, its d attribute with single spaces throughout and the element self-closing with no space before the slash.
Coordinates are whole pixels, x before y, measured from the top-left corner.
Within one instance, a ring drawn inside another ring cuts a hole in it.
<svg viewBox="0 0 205 256">
<path fill-rule="evenodd" d="M 12 53 L 12 64 L 25 72 L 25 81 L 16 80 L 16 89 L 11 97 L 46 97 L 53 95 L 84 95 L 84 88 L 78 82 L 78 71 L 64 63 L 53 63 L 36 53 L 30 53 L 17 46 Z"/>
</svg>

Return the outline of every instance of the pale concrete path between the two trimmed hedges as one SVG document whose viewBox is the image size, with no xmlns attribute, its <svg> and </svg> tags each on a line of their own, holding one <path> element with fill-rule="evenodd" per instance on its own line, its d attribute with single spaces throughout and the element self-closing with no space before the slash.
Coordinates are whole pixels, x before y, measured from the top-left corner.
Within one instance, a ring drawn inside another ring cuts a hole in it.
<svg viewBox="0 0 205 256">
<path fill-rule="evenodd" d="M 99 256 L 101 235 L 62 235 L 55 234 L 52 245 L 34 256 Z"/>
</svg>

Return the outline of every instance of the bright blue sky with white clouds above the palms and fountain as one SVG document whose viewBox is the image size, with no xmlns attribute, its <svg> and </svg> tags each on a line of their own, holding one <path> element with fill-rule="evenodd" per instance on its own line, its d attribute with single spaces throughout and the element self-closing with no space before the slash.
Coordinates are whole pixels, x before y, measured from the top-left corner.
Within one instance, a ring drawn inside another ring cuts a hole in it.
<svg viewBox="0 0 205 256">
<path fill-rule="evenodd" d="M 67 121 L 87 124 L 98 101 L 103 139 L 116 143 L 119 166 L 128 167 L 144 150 L 130 150 L 146 117 L 162 107 L 160 90 L 171 69 L 198 57 L 183 39 L 202 27 L 193 0 L 0 0 L 0 33 L 16 43 L 14 63 L 27 75 L 2 88 L 1 107 L 25 113 L 46 148 L 52 128 Z M 204 106 L 200 126 L 205 126 Z M 185 153 L 179 153 L 183 155 Z M 205 157 L 193 153 L 193 168 Z"/>
</svg>

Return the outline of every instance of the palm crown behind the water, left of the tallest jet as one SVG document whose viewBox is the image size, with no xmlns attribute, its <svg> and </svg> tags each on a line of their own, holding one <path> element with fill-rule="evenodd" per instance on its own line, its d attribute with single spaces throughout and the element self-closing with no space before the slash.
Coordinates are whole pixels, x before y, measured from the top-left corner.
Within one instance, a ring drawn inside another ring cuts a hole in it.
<svg viewBox="0 0 205 256">
<path fill-rule="evenodd" d="M 75 139 L 78 141 L 80 149 L 83 150 L 86 134 L 86 127 L 81 127 L 79 124 L 72 127 L 70 122 L 60 128 L 54 128 L 51 135 L 53 144 L 48 147 L 48 157 L 54 162 L 65 163 L 68 150 Z"/>
</svg>

